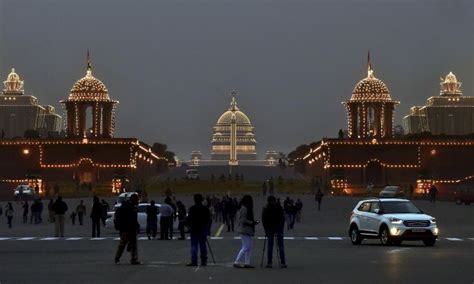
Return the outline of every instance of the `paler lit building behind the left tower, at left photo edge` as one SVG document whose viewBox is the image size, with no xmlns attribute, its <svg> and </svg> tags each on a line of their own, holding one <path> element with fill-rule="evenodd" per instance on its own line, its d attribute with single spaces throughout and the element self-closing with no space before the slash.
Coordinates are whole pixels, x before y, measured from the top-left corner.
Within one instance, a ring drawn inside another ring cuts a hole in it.
<svg viewBox="0 0 474 284">
<path fill-rule="evenodd" d="M 0 135 L 4 138 L 24 137 L 27 130 L 39 130 L 47 135 L 58 132 L 61 116 L 53 106 L 39 104 L 34 96 L 25 95 L 24 81 L 12 69 L 3 82 L 0 96 Z"/>
</svg>

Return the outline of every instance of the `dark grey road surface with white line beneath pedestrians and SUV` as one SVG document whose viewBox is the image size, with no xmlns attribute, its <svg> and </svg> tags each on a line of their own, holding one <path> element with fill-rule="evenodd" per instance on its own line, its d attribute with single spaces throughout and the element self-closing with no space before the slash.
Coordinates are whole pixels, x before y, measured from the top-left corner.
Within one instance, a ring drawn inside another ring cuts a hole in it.
<svg viewBox="0 0 474 284">
<path fill-rule="evenodd" d="M 264 199 L 254 198 L 259 217 Z M 240 241 L 220 222 L 213 225 L 209 240 L 216 264 L 209 258 L 207 267 L 185 267 L 189 241 L 149 241 L 140 235 L 143 265 L 130 265 L 127 253 L 121 264 L 115 265 L 115 232 L 91 239 L 90 221 L 86 220 L 82 227 L 67 224 L 65 238 L 54 238 L 53 224 L 19 224 L 17 210 L 12 229 L 6 227 L 4 218 L 0 224 L 0 283 L 474 283 L 474 206 L 415 201 L 438 220 L 441 233 L 434 247 L 422 242 L 383 247 L 378 240 L 353 246 L 347 237 L 347 223 L 359 198 L 325 197 L 322 211 L 317 211 L 310 195 L 291 198 L 300 198 L 304 207 L 302 222 L 285 231 L 287 269 L 277 265 L 260 268 L 261 226 L 257 226 L 253 241 L 255 269 L 232 267 Z M 191 196 L 178 199 L 188 206 Z M 78 200 L 67 202 L 75 207 Z"/>
</svg>

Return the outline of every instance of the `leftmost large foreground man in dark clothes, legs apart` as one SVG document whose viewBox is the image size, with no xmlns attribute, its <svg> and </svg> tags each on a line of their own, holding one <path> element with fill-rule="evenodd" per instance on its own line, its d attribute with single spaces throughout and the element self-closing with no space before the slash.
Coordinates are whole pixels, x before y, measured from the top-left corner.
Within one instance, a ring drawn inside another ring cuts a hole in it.
<svg viewBox="0 0 474 284">
<path fill-rule="evenodd" d="M 132 265 L 141 264 L 141 262 L 138 261 L 137 249 L 137 233 L 140 229 L 140 224 L 138 224 L 137 219 L 137 205 L 138 195 L 132 194 L 130 200 L 124 201 L 115 212 L 115 229 L 120 232 L 120 242 L 117 247 L 117 253 L 115 254 L 115 264 L 120 262 L 120 257 L 127 245 L 131 254 L 130 263 Z"/>
</svg>

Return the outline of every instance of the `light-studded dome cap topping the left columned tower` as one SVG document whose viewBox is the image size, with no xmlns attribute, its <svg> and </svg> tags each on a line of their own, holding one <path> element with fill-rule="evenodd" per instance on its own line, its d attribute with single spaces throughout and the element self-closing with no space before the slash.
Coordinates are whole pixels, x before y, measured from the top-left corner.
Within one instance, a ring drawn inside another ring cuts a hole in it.
<svg viewBox="0 0 474 284">
<path fill-rule="evenodd" d="M 87 69 L 85 77 L 72 86 L 69 100 L 76 101 L 109 101 L 109 91 L 99 79 L 92 76 L 92 69 Z"/>
</svg>

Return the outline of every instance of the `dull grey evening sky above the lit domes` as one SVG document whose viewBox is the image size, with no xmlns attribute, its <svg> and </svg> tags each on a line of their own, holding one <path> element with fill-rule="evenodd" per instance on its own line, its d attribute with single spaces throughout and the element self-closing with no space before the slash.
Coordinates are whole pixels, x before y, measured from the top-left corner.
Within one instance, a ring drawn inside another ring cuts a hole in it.
<svg viewBox="0 0 474 284">
<path fill-rule="evenodd" d="M 472 0 L 0 0 L 0 76 L 60 108 L 90 48 L 118 136 L 208 154 L 237 89 L 258 151 L 288 152 L 346 127 L 368 48 L 397 123 L 449 71 L 474 95 L 473 19 Z"/>
</svg>

